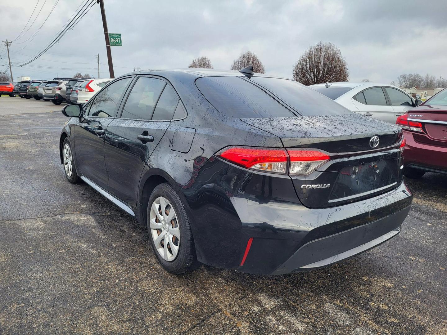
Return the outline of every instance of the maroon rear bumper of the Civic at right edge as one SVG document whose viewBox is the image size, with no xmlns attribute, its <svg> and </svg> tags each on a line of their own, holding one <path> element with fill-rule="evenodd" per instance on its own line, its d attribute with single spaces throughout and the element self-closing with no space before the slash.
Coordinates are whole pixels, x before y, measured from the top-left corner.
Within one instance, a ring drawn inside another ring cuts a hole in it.
<svg viewBox="0 0 447 335">
<path fill-rule="evenodd" d="M 407 141 L 404 149 L 404 167 L 447 173 L 447 147 L 416 142 L 413 133 L 406 130 L 404 134 Z"/>
</svg>

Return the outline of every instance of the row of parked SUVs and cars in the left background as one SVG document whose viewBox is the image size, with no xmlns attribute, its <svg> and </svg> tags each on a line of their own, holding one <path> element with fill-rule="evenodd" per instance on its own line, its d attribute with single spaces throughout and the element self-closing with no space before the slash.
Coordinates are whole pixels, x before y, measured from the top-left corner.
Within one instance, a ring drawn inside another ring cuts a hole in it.
<svg viewBox="0 0 447 335">
<path fill-rule="evenodd" d="M 54 78 L 53 80 L 24 80 L 0 83 L 0 93 L 21 98 L 51 101 L 55 105 L 85 104 L 110 78 Z M 4 85 L 3 85 L 4 84 Z"/>
</svg>

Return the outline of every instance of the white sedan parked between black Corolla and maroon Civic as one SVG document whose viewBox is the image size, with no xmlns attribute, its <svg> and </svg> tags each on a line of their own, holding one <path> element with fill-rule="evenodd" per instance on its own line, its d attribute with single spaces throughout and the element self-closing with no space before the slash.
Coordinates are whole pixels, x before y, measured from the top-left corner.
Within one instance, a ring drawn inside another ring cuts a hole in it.
<svg viewBox="0 0 447 335">
<path fill-rule="evenodd" d="M 340 82 L 309 87 L 355 113 L 390 123 L 396 123 L 398 116 L 422 103 L 389 84 Z"/>
</svg>

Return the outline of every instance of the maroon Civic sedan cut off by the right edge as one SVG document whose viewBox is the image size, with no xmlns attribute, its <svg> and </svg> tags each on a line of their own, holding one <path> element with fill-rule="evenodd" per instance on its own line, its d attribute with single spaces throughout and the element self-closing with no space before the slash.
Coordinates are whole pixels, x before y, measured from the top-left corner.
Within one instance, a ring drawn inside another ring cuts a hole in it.
<svg viewBox="0 0 447 335">
<path fill-rule="evenodd" d="M 404 131 L 404 175 L 447 174 L 447 88 L 396 119 Z"/>
</svg>

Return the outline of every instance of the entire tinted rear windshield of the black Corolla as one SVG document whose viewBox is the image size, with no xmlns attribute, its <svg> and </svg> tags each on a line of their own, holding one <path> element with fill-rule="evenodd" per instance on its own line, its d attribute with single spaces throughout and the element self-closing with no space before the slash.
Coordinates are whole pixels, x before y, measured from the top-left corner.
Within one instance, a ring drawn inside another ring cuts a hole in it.
<svg viewBox="0 0 447 335">
<path fill-rule="evenodd" d="M 289 109 L 279 104 L 253 81 L 272 92 L 303 116 L 352 113 L 342 105 L 321 96 L 295 80 L 252 77 L 202 77 L 196 85 L 220 113 L 228 117 L 291 117 Z"/>
</svg>

